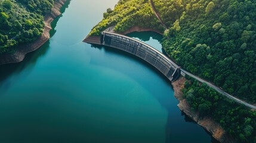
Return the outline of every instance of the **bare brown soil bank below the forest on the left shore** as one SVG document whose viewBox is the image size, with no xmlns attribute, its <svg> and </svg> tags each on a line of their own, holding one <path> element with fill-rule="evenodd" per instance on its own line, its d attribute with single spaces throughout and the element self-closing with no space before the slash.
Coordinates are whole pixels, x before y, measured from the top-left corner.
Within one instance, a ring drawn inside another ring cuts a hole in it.
<svg viewBox="0 0 256 143">
<path fill-rule="evenodd" d="M 2 54 L 0 55 L 0 65 L 1 64 L 10 64 L 10 63 L 18 63 L 23 61 L 25 55 L 29 52 L 35 51 L 36 49 L 40 48 L 44 45 L 45 42 L 50 39 L 50 30 L 51 22 L 54 18 L 58 17 L 60 13 L 60 8 L 64 5 L 67 0 L 58 0 L 54 2 L 54 7 L 51 9 L 51 13 L 45 15 L 44 17 L 44 32 L 42 33 L 41 37 L 38 38 L 36 41 L 27 43 L 24 45 L 19 45 L 17 51 L 14 54 Z"/>
</svg>

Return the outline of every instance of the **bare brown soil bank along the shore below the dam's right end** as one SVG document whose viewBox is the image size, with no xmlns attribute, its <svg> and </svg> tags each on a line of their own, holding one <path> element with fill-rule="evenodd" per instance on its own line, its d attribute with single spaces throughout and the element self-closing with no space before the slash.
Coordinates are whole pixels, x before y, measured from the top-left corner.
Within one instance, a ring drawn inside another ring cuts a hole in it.
<svg viewBox="0 0 256 143">
<path fill-rule="evenodd" d="M 183 92 L 181 89 L 184 88 L 184 83 L 186 82 L 186 79 L 184 77 L 181 77 L 180 79 L 176 80 L 175 82 L 172 82 L 172 87 L 174 89 L 174 96 L 177 98 L 180 103 L 178 104 L 178 107 L 181 111 L 183 111 L 187 116 L 189 116 L 191 119 L 193 119 L 198 125 L 202 126 L 208 132 L 212 134 L 212 136 L 217 139 L 220 142 L 235 142 L 232 138 L 230 138 L 229 135 L 225 132 L 221 126 L 216 123 L 214 120 L 212 120 L 209 117 L 204 117 L 203 119 L 199 117 L 199 113 L 195 113 L 191 110 L 189 103 L 186 99 L 183 98 Z"/>
</svg>

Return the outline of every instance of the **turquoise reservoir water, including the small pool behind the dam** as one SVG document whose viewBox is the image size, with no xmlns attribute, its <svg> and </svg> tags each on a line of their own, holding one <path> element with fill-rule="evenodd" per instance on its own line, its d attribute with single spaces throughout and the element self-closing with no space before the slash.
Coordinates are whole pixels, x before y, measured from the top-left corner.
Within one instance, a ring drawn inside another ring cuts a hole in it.
<svg viewBox="0 0 256 143">
<path fill-rule="evenodd" d="M 0 66 L 0 142 L 214 141 L 181 113 L 159 71 L 81 42 L 116 2 L 70 1 L 50 41 L 23 62 Z M 132 36 L 161 49 L 161 36 L 152 34 Z"/>
</svg>

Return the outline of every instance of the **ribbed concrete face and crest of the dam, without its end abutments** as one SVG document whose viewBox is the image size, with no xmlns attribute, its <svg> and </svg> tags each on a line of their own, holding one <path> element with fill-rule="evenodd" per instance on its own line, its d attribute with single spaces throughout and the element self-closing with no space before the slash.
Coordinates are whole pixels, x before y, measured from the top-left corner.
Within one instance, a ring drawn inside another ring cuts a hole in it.
<svg viewBox="0 0 256 143">
<path fill-rule="evenodd" d="M 172 65 L 171 61 L 166 59 L 166 57 L 159 51 L 156 51 L 156 49 L 153 49 L 136 39 L 131 39 L 116 33 L 103 33 L 103 41 L 102 45 L 121 49 L 122 51 L 129 52 L 142 58 L 161 71 L 161 73 L 163 73 L 169 80 L 172 80 L 172 74 L 176 68 Z"/>
</svg>

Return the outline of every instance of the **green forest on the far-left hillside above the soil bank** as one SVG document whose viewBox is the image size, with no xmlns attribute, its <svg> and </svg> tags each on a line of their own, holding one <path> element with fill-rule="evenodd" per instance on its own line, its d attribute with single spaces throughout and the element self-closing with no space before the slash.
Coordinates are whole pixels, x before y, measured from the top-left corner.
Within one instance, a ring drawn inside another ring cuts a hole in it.
<svg viewBox="0 0 256 143">
<path fill-rule="evenodd" d="M 44 30 L 44 15 L 54 0 L 0 0 L 0 54 L 35 41 Z"/>
</svg>

